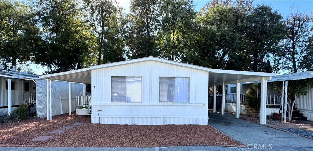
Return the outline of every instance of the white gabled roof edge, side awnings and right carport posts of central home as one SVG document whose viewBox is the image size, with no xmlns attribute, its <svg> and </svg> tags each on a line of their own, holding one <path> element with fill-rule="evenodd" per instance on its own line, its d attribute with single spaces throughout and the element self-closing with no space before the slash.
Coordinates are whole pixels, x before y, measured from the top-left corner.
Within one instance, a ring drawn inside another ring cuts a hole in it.
<svg viewBox="0 0 313 151">
<path fill-rule="evenodd" d="M 92 81 L 91 70 L 118 66 L 118 65 L 131 64 L 131 63 L 139 63 L 139 62 L 144 62 L 144 61 L 156 61 L 156 62 L 162 62 L 162 63 L 172 64 L 172 65 L 184 66 L 188 68 L 207 71 L 209 73 L 208 74 L 209 75 L 208 86 L 218 86 L 218 85 L 223 86 L 222 114 L 224 114 L 224 111 L 225 111 L 225 85 L 236 83 L 237 90 L 239 90 L 240 83 L 250 82 L 250 81 L 261 81 L 260 124 L 266 124 L 266 82 L 267 80 L 270 80 L 272 76 L 275 76 L 274 73 L 234 71 L 234 70 L 215 70 L 215 69 L 205 68 L 205 67 L 196 66 L 196 65 L 190 65 L 190 64 L 179 63 L 179 62 L 174 62 L 170 60 L 159 59 L 155 57 L 146 57 L 146 58 L 135 59 L 135 60 L 127 60 L 127 61 L 122 61 L 122 62 L 109 63 L 109 64 L 104 64 L 104 65 L 90 66 L 89 68 L 80 69 L 80 70 L 49 74 L 49 75 L 40 76 L 39 78 L 91 84 L 91 81 Z M 239 92 L 240 91 L 237 91 L 236 118 L 239 118 L 239 100 L 240 100 Z M 213 102 L 214 102 L 214 112 L 215 112 L 215 102 L 216 102 L 215 93 L 213 96 Z"/>
</svg>

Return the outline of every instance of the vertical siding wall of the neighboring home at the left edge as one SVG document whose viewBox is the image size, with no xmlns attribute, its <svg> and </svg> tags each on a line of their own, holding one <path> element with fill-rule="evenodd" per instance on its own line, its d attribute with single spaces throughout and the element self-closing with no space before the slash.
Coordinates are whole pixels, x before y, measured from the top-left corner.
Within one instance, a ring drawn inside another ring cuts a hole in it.
<svg viewBox="0 0 313 151">
<path fill-rule="evenodd" d="M 0 79 L 0 106 L 6 107 L 8 106 L 8 90 L 5 90 L 5 81 L 8 81 L 7 78 L 1 78 Z M 11 81 L 14 81 L 14 90 L 12 90 L 12 106 L 14 105 L 20 105 L 23 101 L 23 94 L 24 94 L 24 85 L 22 79 L 16 79 L 13 78 Z M 31 80 L 27 80 L 29 82 L 29 91 L 30 93 L 36 93 L 36 89 L 33 90 L 33 87 L 35 87 L 35 82 Z M 15 109 L 17 107 L 14 107 L 12 109 Z M 8 108 L 2 108 L 0 109 L 0 116 L 7 115 L 8 114 Z"/>
</svg>

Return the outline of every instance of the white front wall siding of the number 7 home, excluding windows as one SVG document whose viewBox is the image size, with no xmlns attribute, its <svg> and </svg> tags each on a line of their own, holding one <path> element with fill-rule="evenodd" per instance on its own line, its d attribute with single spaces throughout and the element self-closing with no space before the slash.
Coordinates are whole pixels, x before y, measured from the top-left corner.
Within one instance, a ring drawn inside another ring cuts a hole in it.
<svg viewBox="0 0 313 151">
<path fill-rule="evenodd" d="M 207 71 L 145 61 L 92 70 L 91 75 L 92 123 L 99 123 L 99 116 L 100 123 L 104 124 L 207 124 L 208 122 Z M 111 103 L 111 76 L 141 76 L 142 102 Z M 159 103 L 160 77 L 190 77 L 189 103 Z M 97 112 L 97 109 L 103 112 Z"/>
</svg>

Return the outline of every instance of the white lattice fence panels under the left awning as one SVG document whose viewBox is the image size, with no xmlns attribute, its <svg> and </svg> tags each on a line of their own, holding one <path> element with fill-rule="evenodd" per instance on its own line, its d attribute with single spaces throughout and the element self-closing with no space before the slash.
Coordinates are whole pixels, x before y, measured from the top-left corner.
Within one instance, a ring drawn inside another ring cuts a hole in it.
<svg viewBox="0 0 313 151">
<path fill-rule="evenodd" d="M 50 109 L 50 101 L 52 116 L 69 112 L 69 82 L 51 81 L 51 92 L 49 85 L 50 81 L 48 82 L 47 100 L 47 80 L 36 80 L 37 117 L 47 117 L 47 102 Z M 71 112 L 74 112 L 76 111 L 76 96 L 85 95 L 86 85 L 72 83 L 71 90 Z"/>
</svg>

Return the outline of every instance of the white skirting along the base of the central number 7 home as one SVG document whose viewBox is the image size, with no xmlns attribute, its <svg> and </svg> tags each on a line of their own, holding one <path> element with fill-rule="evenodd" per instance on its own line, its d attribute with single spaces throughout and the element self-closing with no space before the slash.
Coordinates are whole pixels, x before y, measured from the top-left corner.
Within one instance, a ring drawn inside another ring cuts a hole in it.
<svg viewBox="0 0 313 151">
<path fill-rule="evenodd" d="M 136 124 L 136 125 L 166 125 L 166 124 L 197 124 L 207 125 L 208 118 L 199 117 L 91 117 L 91 123 L 101 124 Z"/>
</svg>

